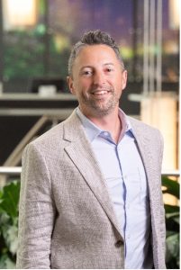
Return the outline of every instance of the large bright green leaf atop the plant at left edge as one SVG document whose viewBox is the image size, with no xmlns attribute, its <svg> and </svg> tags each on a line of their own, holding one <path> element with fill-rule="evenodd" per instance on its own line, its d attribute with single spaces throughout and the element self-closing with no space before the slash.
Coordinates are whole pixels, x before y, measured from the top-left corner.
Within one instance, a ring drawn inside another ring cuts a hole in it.
<svg viewBox="0 0 181 270">
<path fill-rule="evenodd" d="M 18 216 L 20 182 L 12 182 L 3 188 L 0 202 L 1 211 L 5 211 L 13 220 Z"/>
</svg>

